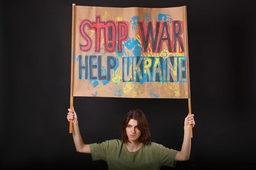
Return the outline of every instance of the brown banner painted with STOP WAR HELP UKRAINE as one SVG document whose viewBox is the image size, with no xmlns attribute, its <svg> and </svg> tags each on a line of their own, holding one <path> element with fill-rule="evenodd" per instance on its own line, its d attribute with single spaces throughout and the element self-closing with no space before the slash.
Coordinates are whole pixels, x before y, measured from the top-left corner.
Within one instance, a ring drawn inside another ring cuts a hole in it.
<svg viewBox="0 0 256 170">
<path fill-rule="evenodd" d="M 73 7 L 72 96 L 189 98 L 186 7 Z"/>
</svg>

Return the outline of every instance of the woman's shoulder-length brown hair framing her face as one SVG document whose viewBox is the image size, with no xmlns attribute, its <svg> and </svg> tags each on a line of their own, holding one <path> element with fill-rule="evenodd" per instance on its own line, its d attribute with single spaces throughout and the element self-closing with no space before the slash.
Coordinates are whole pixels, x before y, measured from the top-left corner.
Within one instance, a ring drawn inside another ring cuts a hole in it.
<svg viewBox="0 0 256 170">
<path fill-rule="evenodd" d="M 131 119 L 137 120 L 138 122 L 137 127 L 141 132 L 141 135 L 138 139 L 139 142 L 143 144 L 149 144 L 151 135 L 148 127 L 148 121 L 146 120 L 144 112 L 142 112 L 140 109 L 134 109 L 127 112 L 125 119 L 121 124 L 121 141 L 123 141 L 123 143 L 127 143 L 129 141 L 126 133 L 126 127 Z"/>
</svg>

